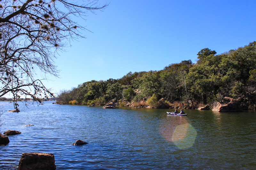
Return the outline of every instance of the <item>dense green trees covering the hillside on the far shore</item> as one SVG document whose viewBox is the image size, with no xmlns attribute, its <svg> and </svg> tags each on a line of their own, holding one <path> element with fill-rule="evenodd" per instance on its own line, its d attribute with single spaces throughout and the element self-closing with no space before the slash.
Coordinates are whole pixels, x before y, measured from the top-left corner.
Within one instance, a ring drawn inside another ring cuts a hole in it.
<svg viewBox="0 0 256 170">
<path fill-rule="evenodd" d="M 129 72 L 120 79 L 89 81 L 59 95 L 64 104 L 103 105 L 116 101 L 140 102 L 161 99 L 165 104 L 185 106 L 211 104 L 223 97 L 243 98 L 248 107 L 256 104 L 256 41 L 236 50 L 216 55 L 204 48 L 197 63 L 191 60 L 166 66 L 163 70 Z"/>
</svg>

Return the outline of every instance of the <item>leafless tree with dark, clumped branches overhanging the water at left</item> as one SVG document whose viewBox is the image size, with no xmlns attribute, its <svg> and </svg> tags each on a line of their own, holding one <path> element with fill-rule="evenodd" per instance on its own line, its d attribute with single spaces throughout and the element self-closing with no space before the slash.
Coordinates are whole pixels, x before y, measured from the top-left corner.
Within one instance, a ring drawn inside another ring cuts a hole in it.
<svg viewBox="0 0 256 170">
<path fill-rule="evenodd" d="M 36 74 L 58 76 L 54 59 L 85 30 L 74 21 L 88 11 L 104 9 L 95 0 L 0 0 L 0 97 L 11 93 L 41 101 L 52 97 Z M 99 5 L 99 6 L 98 6 Z"/>
</svg>

